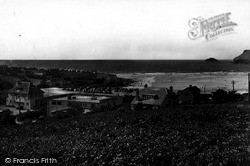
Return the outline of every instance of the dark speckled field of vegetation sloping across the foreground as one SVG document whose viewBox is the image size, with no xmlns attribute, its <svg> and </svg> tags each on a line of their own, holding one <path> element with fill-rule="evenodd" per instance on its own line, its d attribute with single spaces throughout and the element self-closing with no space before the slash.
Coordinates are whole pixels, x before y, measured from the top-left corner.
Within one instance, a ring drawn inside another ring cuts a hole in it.
<svg viewBox="0 0 250 166">
<path fill-rule="evenodd" d="M 2 126 L 6 157 L 58 165 L 249 165 L 249 110 L 235 104 L 87 114 Z"/>
</svg>

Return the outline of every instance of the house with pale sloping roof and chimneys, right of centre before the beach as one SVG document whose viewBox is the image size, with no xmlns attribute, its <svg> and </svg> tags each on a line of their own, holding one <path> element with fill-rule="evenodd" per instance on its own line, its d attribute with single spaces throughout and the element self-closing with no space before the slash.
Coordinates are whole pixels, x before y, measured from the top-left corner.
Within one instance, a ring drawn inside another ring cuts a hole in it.
<svg viewBox="0 0 250 166">
<path fill-rule="evenodd" d="M 158 109 L 166 106 L 167 91 L 165 88 L 146 87 L 136 91 L 136 96 L 131 102 L 131 109 Z M 141 108 L 139 108 L 141 109 Z"/>
</svg>

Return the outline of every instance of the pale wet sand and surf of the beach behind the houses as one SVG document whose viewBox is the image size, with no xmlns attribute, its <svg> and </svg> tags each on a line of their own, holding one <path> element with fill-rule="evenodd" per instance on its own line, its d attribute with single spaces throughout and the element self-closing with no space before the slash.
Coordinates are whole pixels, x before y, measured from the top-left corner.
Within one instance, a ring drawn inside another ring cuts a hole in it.
<svg viewBox="0 0 250 166">
<path fill-rule="evenodd" d="M 202 93 L 211 93 L 216 89 L 234 90 L 238 93 L 247 93 L 247 72 L 200 72 L 200 73 L 127 73 L 117 74 L 118 77 L 130 78 L 135 81 L 130 87 L 143 88 L 144 84 L 152 87 L 182 90 L 189 85 L 197 86 Z"/>
</svg>

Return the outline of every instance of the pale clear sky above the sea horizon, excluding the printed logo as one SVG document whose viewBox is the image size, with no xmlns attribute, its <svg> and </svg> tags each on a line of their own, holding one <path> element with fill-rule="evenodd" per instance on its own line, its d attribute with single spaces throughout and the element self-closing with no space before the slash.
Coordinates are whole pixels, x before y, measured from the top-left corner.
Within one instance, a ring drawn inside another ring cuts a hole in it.
<svg viewBox="0 0 250 166">
<path fill-rule="evenodd" d="M 250 49 L 249 0 L 0 0 L 0 59 L 233 59 Z M 234 32 L 191 40 L 230 12 Z"/>
</svg>

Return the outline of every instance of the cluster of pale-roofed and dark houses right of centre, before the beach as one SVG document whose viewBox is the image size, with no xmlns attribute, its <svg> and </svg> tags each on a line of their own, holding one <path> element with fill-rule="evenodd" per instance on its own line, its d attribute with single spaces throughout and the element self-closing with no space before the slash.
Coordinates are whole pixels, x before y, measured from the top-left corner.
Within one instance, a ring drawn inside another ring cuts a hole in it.
<svg viewBox="0 0 250 166">
<path fill-rule="evenodd" d="M 189 87 L 174 92 L 173 87 L 154 88 L 146 87 L 136 91 L 136 96 L 131 103 L 131 109 L 158 109 L 176 105 L 194 105 L 211 102 L 211 94 L 201 94 L 197 86 Z M 141 106 L 141 107 L 140 107 Z"/>
</svg>

